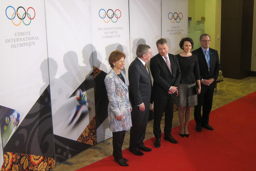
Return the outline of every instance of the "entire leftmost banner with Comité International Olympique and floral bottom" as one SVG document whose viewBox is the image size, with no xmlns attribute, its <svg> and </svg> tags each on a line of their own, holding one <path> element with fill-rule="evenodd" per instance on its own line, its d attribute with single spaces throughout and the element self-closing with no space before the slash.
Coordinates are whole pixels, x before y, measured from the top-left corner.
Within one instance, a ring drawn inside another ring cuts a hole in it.
<svg viewBox="0 0 256 171">
<path fill-rule="evenodd" d="M 22 154 L 54 160 L 44 0 L 3 0 L 0 11 L 3 168 L 21 170 Z"/>
</svg>

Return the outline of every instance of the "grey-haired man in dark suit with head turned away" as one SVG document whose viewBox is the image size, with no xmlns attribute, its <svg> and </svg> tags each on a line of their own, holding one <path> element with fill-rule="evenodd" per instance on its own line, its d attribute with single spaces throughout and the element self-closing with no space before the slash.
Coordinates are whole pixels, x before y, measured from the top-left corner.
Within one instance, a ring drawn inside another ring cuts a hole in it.
<svg viewBox="0 0 256 171">
<path fill-rule="evenodd" d="M 137 57 L 129 66 L 129 96 L 132 105 L 129 150 L 135 155 L 142 156 L 142 151 L 149 152 L 145 147 L 145 138 L 151 99 L 151 75 L 147 67 L 152 55 L 150 46 L 140 44 L 136 50 Z"/>
</svg>

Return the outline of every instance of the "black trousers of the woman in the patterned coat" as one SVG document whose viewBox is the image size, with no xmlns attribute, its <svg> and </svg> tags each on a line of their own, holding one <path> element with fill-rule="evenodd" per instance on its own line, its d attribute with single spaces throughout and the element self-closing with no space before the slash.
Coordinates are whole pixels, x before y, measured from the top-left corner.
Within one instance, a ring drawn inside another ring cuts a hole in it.
<svg viewBox="0 0 256 171">
<path fill-rule="evenodd" d="M 112 143 L 113 143 L 113 156 L 116 159 L 123 158 L 122 146 L 123 146 L 123 143 L 124 143 L 125 132 L 126 131 L 113 132 L 113 139 L 112 139 Z"/>
</svg>

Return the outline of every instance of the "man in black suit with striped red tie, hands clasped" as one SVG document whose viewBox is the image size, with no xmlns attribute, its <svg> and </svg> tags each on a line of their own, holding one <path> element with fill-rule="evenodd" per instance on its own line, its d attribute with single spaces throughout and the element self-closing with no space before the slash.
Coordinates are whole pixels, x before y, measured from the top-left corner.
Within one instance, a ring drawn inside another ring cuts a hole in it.
<svg viewBox="0 0 256 171">
<path fill-rule="evenodd" d="M 181 70 L 175 55 L 168 53 L 169 45 L 165 38 L 156 41 L 158 54 L 150 62 L 153 82 L 154 101 L 154 126 L 153 132 L 156 137 L 155 147 L 161 146 L 161 119 L 165 112 L 164 140 L 177 144 L 172 135 L 172 118 L 174 98 L 178 95 L 177 87 L 181 80 Z"/>
</svg>

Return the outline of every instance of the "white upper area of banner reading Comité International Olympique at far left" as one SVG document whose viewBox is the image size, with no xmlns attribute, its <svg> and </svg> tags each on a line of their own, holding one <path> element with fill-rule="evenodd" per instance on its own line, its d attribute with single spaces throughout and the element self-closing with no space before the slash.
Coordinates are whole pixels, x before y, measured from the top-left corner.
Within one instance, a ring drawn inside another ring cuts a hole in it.
<svg viewBox="0 0 256 171">
<path fill-rule="evenodd" d="M 0 11 L 0 105 L 28 113 L 49 85 L 44 0 L 2 0 Z"/>
</svg>

